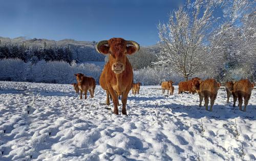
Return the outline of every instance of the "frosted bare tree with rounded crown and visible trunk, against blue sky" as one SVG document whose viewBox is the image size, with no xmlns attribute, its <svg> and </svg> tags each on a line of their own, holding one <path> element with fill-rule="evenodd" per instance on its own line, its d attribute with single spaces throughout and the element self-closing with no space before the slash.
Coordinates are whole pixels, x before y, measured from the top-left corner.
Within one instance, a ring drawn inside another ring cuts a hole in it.
<svg viewBox="0 0 256 161">
<path fill-rule="evenodd" d="M 159 24 L 159 53 L 156 64 L 171 67 L 188 80 L 217 56 L 208 52 L 210 29 L 217 21 L 212 13 L 219 1 L 187 1 L 184 8 L 170 14 L 167 24 Z"/>
</svg>

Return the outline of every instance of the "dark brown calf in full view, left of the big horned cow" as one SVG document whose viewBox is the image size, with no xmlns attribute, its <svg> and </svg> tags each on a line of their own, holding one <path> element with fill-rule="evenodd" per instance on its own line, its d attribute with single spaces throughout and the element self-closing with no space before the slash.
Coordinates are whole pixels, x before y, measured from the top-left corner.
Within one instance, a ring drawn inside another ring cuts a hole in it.
<svg viewBox="0 0 256 161">
<path fill-rule="evenodd" d="M 89 89 L 91 98 L 94 97 L 94 90 L 96 87 L 95 79 L 92 77 L 86 77 L 81 73 L 74 74 L 77 80 L 78 88 L 80 89 L 80 99 L 82 99 L 82 93 L 84 93 L 84 99 L 87 99 L 87 90 Z"/>
</svg>

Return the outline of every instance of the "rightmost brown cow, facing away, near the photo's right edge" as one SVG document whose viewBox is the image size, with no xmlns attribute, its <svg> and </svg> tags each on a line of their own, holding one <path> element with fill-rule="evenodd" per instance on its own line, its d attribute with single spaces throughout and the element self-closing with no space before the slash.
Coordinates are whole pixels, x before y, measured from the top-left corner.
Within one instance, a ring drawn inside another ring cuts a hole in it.
<svg viewBox="0 0 256 161">
<path fill-rule="evenodd" d="M 246 106 L 251 97 L 251 90 L 254 85 L 248 79 L 240 80 L 234 83 L 234 92 L 233 92 L 233 107 L 236 106 L 236 101 L 238 98 L 239 110 L 242 110 L 243 98 L 244 98 L 244 111 L 246 111 Z"/>
</svg>

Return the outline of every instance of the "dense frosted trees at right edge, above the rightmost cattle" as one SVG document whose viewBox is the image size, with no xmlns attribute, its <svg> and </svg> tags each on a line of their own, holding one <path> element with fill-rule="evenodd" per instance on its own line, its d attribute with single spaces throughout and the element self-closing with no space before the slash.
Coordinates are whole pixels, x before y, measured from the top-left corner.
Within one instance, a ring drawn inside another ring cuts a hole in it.
<svg viewBox="0 0 256 161">
<path fill-rule="evenodd" d="M 255 77 L 256 13 L 251 8 L 254 5 L 252 1 L 240 0 L 229 1 L 224 7 L 226 21 L 215 30 L 209 43 L 211 52 L 219 53 L 221 59 L 211 68 L 206 67 L 209 74 L 223 81 Z M 240 70 L 244 71 L 243 77 L 232 74 Z"/>
</svg>

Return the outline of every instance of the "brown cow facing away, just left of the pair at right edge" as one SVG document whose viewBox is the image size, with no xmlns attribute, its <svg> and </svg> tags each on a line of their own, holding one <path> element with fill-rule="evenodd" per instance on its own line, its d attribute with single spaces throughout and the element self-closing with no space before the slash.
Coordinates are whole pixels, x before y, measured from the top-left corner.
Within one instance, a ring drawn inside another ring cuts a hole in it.
<svg viewBox="0 0 256 161">
<path fill-rule="evenodd" d="M 208 110 L 208 103 L 209 103 L 209 97 L 210 97 L 210 111 L 212 111 L 212 106 L 214 106 L 214 101 L 217 97 L 217 93 L 218 93 L 218 84 L 215 79 L 206 79 L 205 81 L 202 81 L 200 83 L 199 93 L 198 93 L 199 99 L 200 99 L 199 107 L 202 106 L 202 101 L 204 98 L 205 109 Z"/>
</svg>

